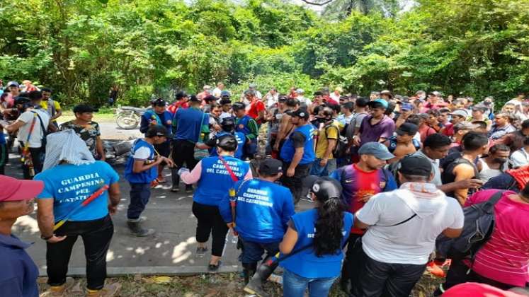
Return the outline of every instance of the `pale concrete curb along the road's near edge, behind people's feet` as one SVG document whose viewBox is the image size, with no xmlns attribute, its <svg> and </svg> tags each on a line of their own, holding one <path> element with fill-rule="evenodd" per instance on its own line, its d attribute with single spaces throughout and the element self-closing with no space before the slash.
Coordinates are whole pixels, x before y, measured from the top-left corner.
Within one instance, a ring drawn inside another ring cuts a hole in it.
<svg viewBox="0 0 529 297">
<path fill-rule="evenodd" d="M 240 272 L 238 265 L 221 265 L 216 273 Z M 152 266 L 152 267 L 107 267 L 108 277 L 127 276 L 127 275 L 166 275 L 166 276 L 188 276 L 195 274 L 209 274 L 207 267 L 202 266 Z M 39 276 L 47 276 L 46 269 L 39 269 Z M 68 276 L 85 277 L 85 267 L 69 267 Z"/>
</svg>

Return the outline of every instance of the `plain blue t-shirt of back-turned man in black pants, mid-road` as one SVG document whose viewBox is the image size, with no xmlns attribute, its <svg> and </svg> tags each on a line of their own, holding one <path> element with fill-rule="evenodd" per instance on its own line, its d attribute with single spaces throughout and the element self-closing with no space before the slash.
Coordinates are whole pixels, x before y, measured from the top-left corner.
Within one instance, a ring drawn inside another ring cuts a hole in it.
<svg viewBox="0 0 529 297">
<path fill-rule="evenodd" d="M 178 108 L 174 114 L 173 127 L 176 127 L 174 139 L 183 139 L 193 143 L 198 141 L 200 131 L 209 133 L 210 115 L 195 107 Z"/>
</svg>

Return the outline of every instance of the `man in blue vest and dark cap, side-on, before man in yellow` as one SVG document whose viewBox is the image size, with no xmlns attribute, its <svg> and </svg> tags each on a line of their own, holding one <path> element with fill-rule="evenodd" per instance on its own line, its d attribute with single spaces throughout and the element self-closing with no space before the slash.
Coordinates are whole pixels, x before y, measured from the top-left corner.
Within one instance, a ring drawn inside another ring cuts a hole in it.
<svg viewBox="0 0 529 297">
<path fill-rule="evenodd" d="M 281 148 L 284 174 L 281 182 L 294 195 L 294 203 L 300 201 L 304 188 L 303 178 L 309 175 L 310 165 L 316 158 L 314 154 L 314 126 L 308 122 L 309 112 L 298 109 L 289 113 L 294 130 Z"/>
</svg>

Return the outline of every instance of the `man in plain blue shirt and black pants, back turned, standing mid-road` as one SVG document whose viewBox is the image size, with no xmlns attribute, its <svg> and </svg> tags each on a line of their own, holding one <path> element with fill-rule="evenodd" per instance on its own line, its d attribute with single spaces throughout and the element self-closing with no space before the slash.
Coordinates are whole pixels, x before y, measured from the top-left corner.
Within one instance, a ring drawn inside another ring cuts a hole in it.
<svg viewBox="0 0 529 297">
<path fill-rule="evenodd" d="M 172 170 L 172 192 L 180 190 L 178 169 L 182 168 L 183 163 L 186 163 L 187 168 L 194 168 L 197 164 L 194 154 L 200 134 L 210 133 L 210 116 L 200 110 L 200 103 L 197 96 L 191 95 L 190 107 L 178 108 L 173 117 L 173 161 L 176 167 Z M 186 185 L 186 192 L 193 192 L 193 185 Z"/>
</svg>

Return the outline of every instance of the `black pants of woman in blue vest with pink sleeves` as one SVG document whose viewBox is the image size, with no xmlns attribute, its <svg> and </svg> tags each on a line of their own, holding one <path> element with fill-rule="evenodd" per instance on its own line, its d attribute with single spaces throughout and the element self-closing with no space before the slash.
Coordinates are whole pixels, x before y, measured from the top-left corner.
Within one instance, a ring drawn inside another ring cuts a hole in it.
<svg viewBox="0 0 529 297">
<path fill-rule="evenodd" d="M 199 243 L 205 243 L 212 235 L 211 255 L 222 257 L 228 226 L 220 216 L 217 206 L 193 202 L 193 214 L 198 220 L 196 238 Z"/>
</svg>

